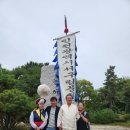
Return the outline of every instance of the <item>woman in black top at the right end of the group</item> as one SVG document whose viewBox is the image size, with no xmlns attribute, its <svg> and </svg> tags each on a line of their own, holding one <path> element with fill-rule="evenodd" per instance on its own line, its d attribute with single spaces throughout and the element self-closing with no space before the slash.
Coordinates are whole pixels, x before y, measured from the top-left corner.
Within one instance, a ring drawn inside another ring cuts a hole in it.
<svg viewBox="0 0 130 130">
<path fill-rule="evenodd" d="M 81 101 L 78 103 L 78 110 L 80 118 L 77 121 L 77 130 L 90 130 L 89 115 L 84 111 L 84 104 Z"/>
</svg>

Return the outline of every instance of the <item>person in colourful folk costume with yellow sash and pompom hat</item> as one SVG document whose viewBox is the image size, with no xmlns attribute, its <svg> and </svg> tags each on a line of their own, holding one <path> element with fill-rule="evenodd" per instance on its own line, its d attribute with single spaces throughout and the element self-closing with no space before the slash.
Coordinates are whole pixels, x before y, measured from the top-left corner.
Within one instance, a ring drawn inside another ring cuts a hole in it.
<svg viewBox="0 0 130 130">
<path fill-rule="evenodd" d="M 36 104 L 38 105 L 38 109 L 33 110 L 30 115 L 30 125 L 31 130 L 44 130 L 48 115 L 44 110 L 44 104 L 46 100 L 44 98 L 39 98 L 36 100 Z"/>
</svg>

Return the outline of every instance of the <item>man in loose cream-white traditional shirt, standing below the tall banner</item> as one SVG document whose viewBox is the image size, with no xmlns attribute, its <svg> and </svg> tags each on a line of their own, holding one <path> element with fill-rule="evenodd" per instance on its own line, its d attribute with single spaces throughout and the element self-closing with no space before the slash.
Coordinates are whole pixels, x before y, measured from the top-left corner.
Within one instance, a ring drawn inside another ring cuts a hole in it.
<svg viewBox="0 0 130 130">
<path fill-rule="evenodd" d="M 77 106 L 72 104 L 72 95 L 66 95 L 67 104 L 61 106 L 57 126 L 59 130 L 77 130 L 76 122 L 79 118 Z"/>
</svg>

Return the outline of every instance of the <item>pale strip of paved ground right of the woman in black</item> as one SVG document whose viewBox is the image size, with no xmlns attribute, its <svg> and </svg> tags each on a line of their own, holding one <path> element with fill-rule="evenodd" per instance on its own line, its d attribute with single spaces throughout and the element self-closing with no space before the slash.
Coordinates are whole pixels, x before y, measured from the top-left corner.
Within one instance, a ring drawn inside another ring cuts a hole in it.
<svg viewBox="0 0 130 130">
<path fill-rule="evenodd" d="M 130 130 L 130 128 L 122 126 L 110 126 L 110 125 L 91 125 L 90 130 Z"/>
</svg>

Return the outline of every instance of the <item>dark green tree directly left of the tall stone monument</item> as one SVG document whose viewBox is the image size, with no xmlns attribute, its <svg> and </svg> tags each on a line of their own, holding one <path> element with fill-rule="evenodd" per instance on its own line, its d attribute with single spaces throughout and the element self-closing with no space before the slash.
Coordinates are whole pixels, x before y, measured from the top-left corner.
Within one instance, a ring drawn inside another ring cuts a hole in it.
<svg viewBox="0 0 130 130">
<path fill-rule="evenodd" d="M 21 67 L 15 68 L 12 73 L 18 80 L 17 88 L 26 92 L 29 96 L 36 95 L 37 87 L 40 84 L 41 67 L 47 63 L 29 62 Z"/>
</svg>

